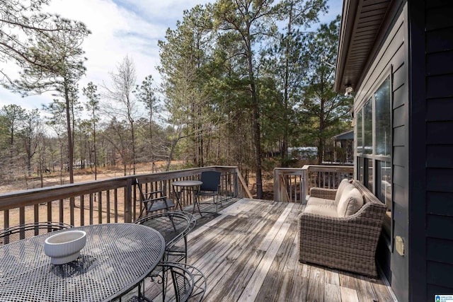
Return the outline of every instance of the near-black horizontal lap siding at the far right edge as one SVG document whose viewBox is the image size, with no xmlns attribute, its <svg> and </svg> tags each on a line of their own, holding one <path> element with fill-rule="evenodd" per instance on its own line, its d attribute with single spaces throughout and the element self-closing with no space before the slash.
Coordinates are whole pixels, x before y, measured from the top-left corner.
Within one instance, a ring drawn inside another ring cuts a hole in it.
<svg viewBox="0 0 453 302">
<path fill-rule="evenodd" d="M 427 299 L 453 293 L 453 3 L 426 1 Z"/>
</svg>

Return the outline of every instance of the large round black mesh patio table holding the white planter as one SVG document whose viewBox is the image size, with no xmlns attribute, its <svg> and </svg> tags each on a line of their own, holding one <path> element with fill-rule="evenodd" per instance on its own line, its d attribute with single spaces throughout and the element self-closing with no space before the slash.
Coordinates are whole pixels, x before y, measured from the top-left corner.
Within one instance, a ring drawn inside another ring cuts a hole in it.
<svg viewBox="0 0 453 302">
<path fill-rule="evenodd" d="M 0 301 L 110 301 L 137 286 L 164 255 L 164 238 L 148 226 L 71 230 L 86 231 L 86 245 L 64 265 L 52 265 L 44 253 L 45 239 L 57 232 L 0 246 Z"/>
</svg>

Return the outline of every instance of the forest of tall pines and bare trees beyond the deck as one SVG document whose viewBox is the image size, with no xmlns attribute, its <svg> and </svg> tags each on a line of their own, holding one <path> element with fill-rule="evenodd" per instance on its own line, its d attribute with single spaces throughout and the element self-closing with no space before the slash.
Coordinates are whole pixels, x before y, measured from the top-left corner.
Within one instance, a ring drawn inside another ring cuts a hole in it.
<svg viewBox="0 0 453 302">
<path fill-rule="evenodd" d="M 3 86 L 55 95 L 41 110 L 0 108 L 4 184 L 47 173 L 74 182 L 82 168 L 94 179 L 100 167 L 129 175 L 165 161 L 164 170 L 237 165 L 256 175 L 260 198 L 263 169 L 289 165 L 289 146 L 316 146 L 322 163 L 328 140 L 350 129 L 352 98 L 333 91 L 340 17 L 307 30 L 326 1 L 195 6 L 159 41 L 160 83 L 137 79 L 126 55 L 113 62 L 110 83 L 86 87 L 78 81 L 89 29 L 42 13 L 47 3 L 6 0 L 0 8 L 0 59 L 21 69 L 14 79 L 3 74 Z"/>
</svg>

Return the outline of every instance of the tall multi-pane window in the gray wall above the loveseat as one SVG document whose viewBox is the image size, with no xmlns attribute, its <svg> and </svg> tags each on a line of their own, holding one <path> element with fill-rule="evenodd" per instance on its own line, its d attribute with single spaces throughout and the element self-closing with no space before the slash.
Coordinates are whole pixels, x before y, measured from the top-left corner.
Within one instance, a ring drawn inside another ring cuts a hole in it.
<svg viewBox="0 0 453 302">
<path fill-rule="evenodd" d="M 382 203 L 387 214 L 384 229 L 390 234 L 391 221 L 391 83 L 387 77 L 371 98 L 356 112 L 356 175 Z"/>
</svg>

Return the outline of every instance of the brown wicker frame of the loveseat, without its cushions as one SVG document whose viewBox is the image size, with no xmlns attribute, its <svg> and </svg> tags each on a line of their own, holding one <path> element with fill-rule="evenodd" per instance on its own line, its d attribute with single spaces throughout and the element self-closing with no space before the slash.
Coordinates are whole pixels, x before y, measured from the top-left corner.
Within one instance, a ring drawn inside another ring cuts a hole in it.
<svg viewBox="0 0 453 302">
<path fill-rule="evenodd" d="M 360 182 L 352 182 L 365 204 L 357 213 L 326 217 L 299 216 L 299 261 L 377 277 L 375 253 L 386 207 Z"/>
</svg>

